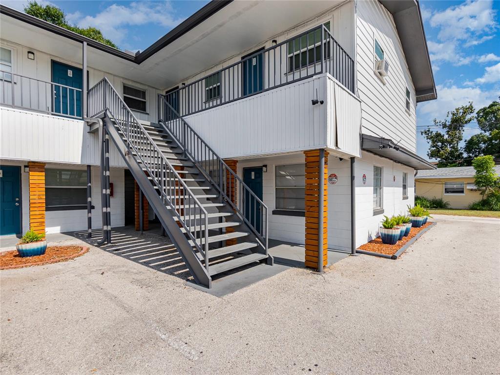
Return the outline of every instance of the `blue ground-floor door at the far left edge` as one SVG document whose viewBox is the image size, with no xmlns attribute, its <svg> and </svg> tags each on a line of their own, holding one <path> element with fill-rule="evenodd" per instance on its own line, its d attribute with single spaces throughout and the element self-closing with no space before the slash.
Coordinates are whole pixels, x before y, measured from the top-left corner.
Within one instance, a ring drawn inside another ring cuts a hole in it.
<svg viewBox="0 0 500 375">
<path fill-rule="evenodd" d="M 20 219 L 20 167 L 0 165 L 0 235 L 20 233 Z"/>
</svg>

